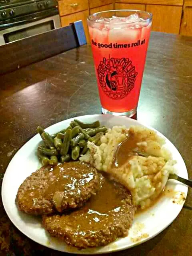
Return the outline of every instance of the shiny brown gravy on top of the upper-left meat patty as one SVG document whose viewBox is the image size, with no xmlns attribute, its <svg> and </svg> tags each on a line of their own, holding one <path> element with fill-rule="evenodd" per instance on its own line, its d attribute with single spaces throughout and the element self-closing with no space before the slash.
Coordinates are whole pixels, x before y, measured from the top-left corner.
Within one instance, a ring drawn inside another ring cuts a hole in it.
<svg viewBox="0 0 192 256">
<path fill-rule="evenodd" d="M 74 193 L 80 194 L 80 188 L 95 178 L 94 172 L 79 162 L 69 162 L 58 164 L 45 171 L 44 180 L 41 184 L 35 184 L 25 192 L 25 198 L 39 198 L 42 196 L 50 200 L 56 191 L 64 191 L 68 196 L 73 196 Z"/>
</svg>

